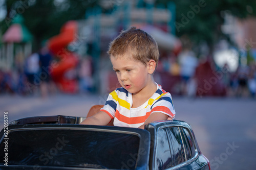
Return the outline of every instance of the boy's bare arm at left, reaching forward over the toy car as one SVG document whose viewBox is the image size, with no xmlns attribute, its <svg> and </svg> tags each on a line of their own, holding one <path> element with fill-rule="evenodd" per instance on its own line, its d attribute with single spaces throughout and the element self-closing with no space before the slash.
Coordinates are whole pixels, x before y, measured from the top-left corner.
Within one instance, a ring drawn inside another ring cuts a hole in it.
<svg viewBox="0 0 256 170">
<path fill-rule="evenodd" d="M 103 111 L 99 111 L 91 117 L 87 117 L 81 125 L 102 125 L 105 126 L 111 121 L 111 117 Z"/>
</svg>

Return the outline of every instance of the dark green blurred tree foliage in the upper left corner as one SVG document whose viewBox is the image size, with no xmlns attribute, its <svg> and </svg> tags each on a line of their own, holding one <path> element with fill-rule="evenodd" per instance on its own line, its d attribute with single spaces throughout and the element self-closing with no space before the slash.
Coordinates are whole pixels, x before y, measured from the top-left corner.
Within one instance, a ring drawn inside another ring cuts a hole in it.
<svg viewBox="0 0 256 170">
<path fill-rule="evenodd" d="M 86 10 L 95 6 L 96 0 L 6 0 L 7 16 L 1 22 L 4 33 L 16 14 L 25 18 L 25 25 L 34 35 L 34 46 L 41 41 L 57 35 L 61 26 L 68 20 L 84 19 Z"/>
</svg>

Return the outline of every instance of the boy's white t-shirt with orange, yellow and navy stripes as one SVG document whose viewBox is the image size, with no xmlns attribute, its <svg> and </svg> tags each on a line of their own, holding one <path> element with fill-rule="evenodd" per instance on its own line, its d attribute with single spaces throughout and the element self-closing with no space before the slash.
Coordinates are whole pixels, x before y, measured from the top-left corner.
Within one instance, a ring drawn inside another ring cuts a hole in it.
<svg viewBox="0 0 256 170">
<path fill-rule="evenodd" d="M 114 126 L 138 128 L 143 125 L 151 113 L 161 112 L 170 118 L 175 117 L 172 95 L 164 91 L 160 85 L 156 92 L 144 104 L 137 108 L 133 105 L 132 93 L 123 87 L 112 91 L 104 107 L 100 110 L 114 118 Z"/>
</svg>

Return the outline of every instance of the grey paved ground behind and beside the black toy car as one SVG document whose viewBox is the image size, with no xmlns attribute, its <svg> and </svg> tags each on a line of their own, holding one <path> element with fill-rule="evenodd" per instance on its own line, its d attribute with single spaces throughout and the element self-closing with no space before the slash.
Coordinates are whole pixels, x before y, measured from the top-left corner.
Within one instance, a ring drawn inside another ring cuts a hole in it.
<svg viewBox="0 0 256 170">
<path fill-rule="evenodd" d="M 86 116 L 92 105 L 104 104 L 107 96 L 57 94 L 37 96 L 0 95 L 0 128 L 4 111 L 9 122 L 29 116 Z M 256 100 L 173 96 L 176 119 L 189 123 L 211 169 L 255 169 Z"/>
</svg>

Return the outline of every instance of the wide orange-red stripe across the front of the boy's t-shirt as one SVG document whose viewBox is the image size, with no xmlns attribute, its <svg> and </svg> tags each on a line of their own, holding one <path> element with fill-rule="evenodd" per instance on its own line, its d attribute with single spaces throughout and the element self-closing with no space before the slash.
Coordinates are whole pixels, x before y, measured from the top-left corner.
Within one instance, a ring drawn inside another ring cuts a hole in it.
<svg viewBox="0 0 256 170">
<path fill-rule="evenodd" d="M 144 116 L 138 116 L 138 117 L 127 117 L 119 113 L 118 110 L 116 110 L 115 117 L 123 123 L 132 125 L 132 124 L 141 124 L 144 123 L 148 116 L 150 116 L 151 112 L 147 112 Z"/>
</svg>

